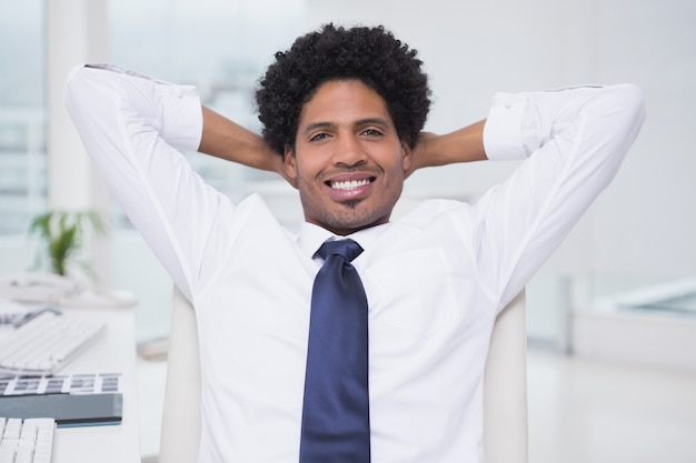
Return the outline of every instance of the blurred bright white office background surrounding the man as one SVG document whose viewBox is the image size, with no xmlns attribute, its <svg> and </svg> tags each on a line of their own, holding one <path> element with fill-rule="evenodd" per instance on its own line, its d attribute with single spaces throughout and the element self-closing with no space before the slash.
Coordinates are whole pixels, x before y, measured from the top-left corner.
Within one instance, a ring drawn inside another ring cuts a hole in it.
<svg viewBox="0 0 696 463">
<path fill-rule="evenodd" d="M 381 23 L 419 51 L 434 91 L 429 131 L 484 118 L 497 91 L 638 84 L 648 115 L 623 170 L 528 286 L 530 461 L 696 461 L 693 1 L 0 0 L 0 275 L 31 268 L 37 243 L 27 229 L 37 214 L 103 211 L 110 232 L 95 241 L 90 259 L 100 284 L 138 298 L 140 342 L 167 335 L 171 280 L 93 175 L 67 119 L 62 88 L 73 66 L 111 61 L 195 84 L 207 105 L 255 131 L 253 90 L 274 52 L 328 21 Z M 259 191 L 289 228 L 301 221 L 296 192 L 277 177 L 187 155 L 231 198 Z M 398 212 L 428 197 L 475 201 L 515 167 L 419 171 Z M 143 378 L 162 378 L 166 364 L 149 366 Z M 156 407 L 142 417 L 157 419 Z M 143 454 L 156 452 L 157 432 L 142 445 Z"/>
</svg>

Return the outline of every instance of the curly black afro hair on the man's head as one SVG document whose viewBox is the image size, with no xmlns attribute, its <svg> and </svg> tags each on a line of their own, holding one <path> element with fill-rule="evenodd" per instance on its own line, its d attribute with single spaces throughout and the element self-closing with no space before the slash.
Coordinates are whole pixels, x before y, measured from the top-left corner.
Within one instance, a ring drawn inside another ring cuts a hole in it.
<svg viewBox="0 0 696 463">
<path fill-rule="evenodd" d="M 430 110 L 428 77 L 417 54 L 382 26 L 328 23 L 299 37 L 276 53 L 256 92 L 266 142 L 280 154 L 294 149 L 300 112 L 317 89 L 330 80 L 358 79 L 385 100 L 399 139 L 412 148 Z"/>
</svg>

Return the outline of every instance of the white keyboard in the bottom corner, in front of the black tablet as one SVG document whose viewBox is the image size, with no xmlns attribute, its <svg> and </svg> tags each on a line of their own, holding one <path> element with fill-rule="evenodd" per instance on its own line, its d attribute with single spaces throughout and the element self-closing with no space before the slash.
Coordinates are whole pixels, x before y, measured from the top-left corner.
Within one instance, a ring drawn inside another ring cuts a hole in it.
<svg viewBox="0 0 696 463">
<path fill-rule="evenodd" d="M 0 463 L 51 463 L 56 421 L 0 416 Z"/>
</svg>

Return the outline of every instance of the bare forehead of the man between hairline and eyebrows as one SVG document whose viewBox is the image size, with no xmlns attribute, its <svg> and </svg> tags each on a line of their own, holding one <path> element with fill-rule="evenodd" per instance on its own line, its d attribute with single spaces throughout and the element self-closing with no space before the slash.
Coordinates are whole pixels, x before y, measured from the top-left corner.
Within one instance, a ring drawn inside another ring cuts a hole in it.
<svg viewBox="0 0 696 463">
<path fill-rule="evenodd" d="M 391 122 L 387 103 L 379 93 L 357 79 L 330 80 L 319 85 L 305 103 L 299 124 L 348 123 L 370 118 Z"/>
</svg>

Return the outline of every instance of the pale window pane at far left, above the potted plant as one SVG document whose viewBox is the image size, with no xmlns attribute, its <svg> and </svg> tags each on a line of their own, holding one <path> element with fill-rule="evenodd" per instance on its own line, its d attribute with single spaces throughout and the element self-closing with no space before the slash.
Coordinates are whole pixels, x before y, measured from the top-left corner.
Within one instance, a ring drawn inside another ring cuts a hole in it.
<svg viewBox="0 0 696 463">
<path fill-rule="evenodd" d="M 43 2 L 0 14 L 0 235 L 23 234 L 46 207 Z"/>
</svg>

